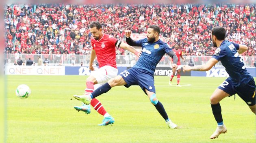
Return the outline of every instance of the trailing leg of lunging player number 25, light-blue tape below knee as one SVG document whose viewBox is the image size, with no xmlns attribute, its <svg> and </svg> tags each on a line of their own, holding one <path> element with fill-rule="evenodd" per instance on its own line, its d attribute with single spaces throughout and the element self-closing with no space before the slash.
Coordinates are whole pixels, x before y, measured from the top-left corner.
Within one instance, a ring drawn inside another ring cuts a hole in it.
<svg viewBox="0 0 256 143">
<path fill-rule="evenodd" d="M 150 99 L 150 102 L 152 103 L 152 105 L 154 105 L 156 107 L 156 110 L 164 118 L 168 127 L 173 128 L 173 129 L 178 128 L 178 126 L 176 124 L 174 124 L 173 122 L 171 122 L 171 120 L 169 119 L 162 103 L 156 98 L 156 94 L 154 92 L 148 91 L 147 89 L 145 89 L 145 92 L 148 94 L 148 98 Z"/>
</svg>

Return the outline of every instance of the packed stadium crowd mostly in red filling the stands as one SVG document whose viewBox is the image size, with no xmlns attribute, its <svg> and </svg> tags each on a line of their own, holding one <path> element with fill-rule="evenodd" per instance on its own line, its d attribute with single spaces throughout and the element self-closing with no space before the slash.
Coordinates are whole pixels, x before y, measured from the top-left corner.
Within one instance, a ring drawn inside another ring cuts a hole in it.
<svg viewBox="0 0 256 143">
<path fill-rule="evenodd" d="M 97 20 L 119 40 L 126 29 L 143 33 L 156 24 L 169 45 L 179 43 L 183 55 L 198 56 L 213 55 L 210 30 L 223 26 L 227 39 L 249 47 L 244 56 L 256 56 L 255 9 L 255 4 L 14 4 L 5 7 L 5 53 L 90 54 L 89 24 Z"/>
</svg>

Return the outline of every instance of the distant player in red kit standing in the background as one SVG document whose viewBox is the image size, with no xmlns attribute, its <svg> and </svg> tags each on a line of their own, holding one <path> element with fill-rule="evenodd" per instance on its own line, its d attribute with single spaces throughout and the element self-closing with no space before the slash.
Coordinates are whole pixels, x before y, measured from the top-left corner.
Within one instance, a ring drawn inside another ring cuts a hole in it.
<svg viewBox="0 0 256 143">
<path fill-rule="evenodd" d="M 176 43 L 174 45 L 173 51 L 178 57 L 178 63 L 177 63 L 178 68 L 177 69 L 176 68 L 172 69 L 172 75 L 171 75 L 171 78 L 170 78 L 170 81 L 169 81 L 169 85 L 171 85 L 172 79 L 174 78 L 174 75 L 177 71 L 177 85 L 176 85 L 177 87 L 181 87 L 181 85 L 180 85 L 180 70 L 181 70 L 180 58 L 182 58 L 183 62 L 185 62 L 185 60 L 186 60 L 184 57 L 182 57 L 182 51 L 181 51 L 181 49 L 179 49 L 179 47 L 180 47 L 180 45 L 178 43 Z M 171 60 L 171 62 L 172 62 L 172 60 Z"/>
</svg>

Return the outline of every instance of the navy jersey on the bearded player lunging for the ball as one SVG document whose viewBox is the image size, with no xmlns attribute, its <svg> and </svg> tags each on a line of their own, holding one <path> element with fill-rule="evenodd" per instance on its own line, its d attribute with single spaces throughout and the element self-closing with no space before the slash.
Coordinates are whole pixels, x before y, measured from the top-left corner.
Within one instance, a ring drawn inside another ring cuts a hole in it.
<svg viewBox="0 0 256 143">
<path fill-rule="evenodd" d="M 147 70 L 154 75 L 156 65 L 165 53 L 172 51 L 171 47 L 160 39 L 154 43 L 149 43 L 147 38 L 135 42 L 142 47 L 142 53 L 133 67 Z"/>
</svg>

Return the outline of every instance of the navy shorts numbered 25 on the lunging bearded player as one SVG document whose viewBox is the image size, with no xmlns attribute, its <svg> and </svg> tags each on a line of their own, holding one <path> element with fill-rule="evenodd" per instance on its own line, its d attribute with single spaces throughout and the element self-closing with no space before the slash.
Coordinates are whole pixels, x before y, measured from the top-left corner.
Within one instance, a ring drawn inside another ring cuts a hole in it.
<svg viewBox="0 0 256 143">
<path fill-rule="evenodd" d="M 121 75 L 127 83 L 124 85 L 126 88 L 129 88 L 131 85 L 139 85 L 144 92 L 145 89 L 147 89 L 150 92 L 156 93 L 154 77 L 147 70 L 143 70 L 141 68 L 130 68 L 128 70 L 124 70 L 119 75 Z M 147 93 L 145 92 L 145 94 Z"/>
</svg>

